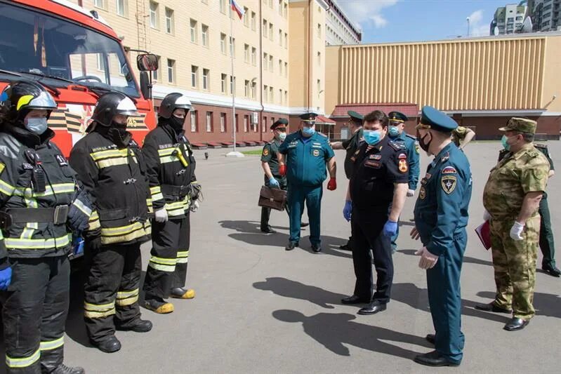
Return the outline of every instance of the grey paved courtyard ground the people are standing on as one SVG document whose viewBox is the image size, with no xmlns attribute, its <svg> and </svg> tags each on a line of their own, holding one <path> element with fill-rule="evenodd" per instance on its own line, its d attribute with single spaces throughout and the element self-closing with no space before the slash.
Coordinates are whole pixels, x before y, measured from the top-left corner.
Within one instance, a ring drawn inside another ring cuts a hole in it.
<svg viewBox="0 0 561 374">
<path fill-rule="evenodd" d="M 561 170 L 561 142 L 548 146 Z M 277 234 L 260 233 L 260 161 L 257 156 L 227 159 L 226 149 L 196 151 L 197 178 L 205 199 L 192 215 L 188 286 L 197 297 L 176 300 L 176 311 L 168 315 L 143 309 L 143 317 L 154 323 L 152 332 L 118 332 L 121 351 L 103 354 L 86 338 L 77 274 L 67 323 L 66 362 L 96 374 L 558 372 L 561 279 L 537 274 L 538 312 L 522 331 L 503 330 L 508 319 L 504 314 L 473 309 L 475 303 L 489 302 L 494 296 L 491 254 L 473 229 L 482 222 L 482 189 L 500 147 L 499 142 L 475 142 L 467 149 L 474 188 L 462 272 L 466 349 L 459 368 L 426 368 L 412 361 L 415 354 L 432 350 L 423 337 L 433 332 L 425 272 L 414 256 L 421 243 L 408 235 L 416 196 L 408 199 L 402 213 L 392 301 L 381 314 L 359 316 L 357 307 L 339 302 L 352 293 L 355 279 L 350 253 L 338 249 L 350 233 L 341 213 L 344 152 L 336 152 L 338 189 L 324 191 L 324 251 L 316 255 L 310 251 L 307 229 L 302 248 L 284 251 L 286 213 L 271 215 Z M 209 152 L 208 160 L 204 152 Z M 422 176 L 428 157 L 422 156 L 421 161 Z M 555 223 L 561 220 L 557 200 L 561 175 L 550 180 L 548 192 L 553 227 L 560 235 Z M 150 246 L 143 246 L 144 264 L 149 252 Z"/>
</svg>

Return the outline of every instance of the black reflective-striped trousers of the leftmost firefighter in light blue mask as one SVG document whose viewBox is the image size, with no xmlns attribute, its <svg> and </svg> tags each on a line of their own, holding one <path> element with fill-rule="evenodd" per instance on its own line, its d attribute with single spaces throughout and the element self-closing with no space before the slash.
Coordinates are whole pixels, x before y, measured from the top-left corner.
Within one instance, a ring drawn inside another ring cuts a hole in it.
<svg viewBox="0 0 561 374">
<path fill-rule="evenodd" d="M 64 358 L 70 262 L 67 255 L 12 261 L 11 286 L 0 293 L 7 373 L 51 373 Z"/>
</svg>

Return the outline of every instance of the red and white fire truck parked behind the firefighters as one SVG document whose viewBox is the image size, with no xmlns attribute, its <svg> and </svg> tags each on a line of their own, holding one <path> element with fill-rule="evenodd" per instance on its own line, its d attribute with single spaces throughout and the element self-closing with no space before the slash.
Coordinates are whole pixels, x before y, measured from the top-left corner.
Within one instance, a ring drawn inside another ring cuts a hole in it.
<svg viewBox="0 0 561 374">
<path fill-rule="evenodd" d="M 55 98 L 58 109 L 48 126 L 65 156 L 82 137 L 100 95 L 128 95 L 139 116 L 128 119 L 142 144 L 155 126 L 150 71 L 157 57 L 140 52 L 140 84 L 121 41 L 95 11 L 66 0 L 0 0 L 0 91 L 13 81 L 37 81 Z"/>
</svg>

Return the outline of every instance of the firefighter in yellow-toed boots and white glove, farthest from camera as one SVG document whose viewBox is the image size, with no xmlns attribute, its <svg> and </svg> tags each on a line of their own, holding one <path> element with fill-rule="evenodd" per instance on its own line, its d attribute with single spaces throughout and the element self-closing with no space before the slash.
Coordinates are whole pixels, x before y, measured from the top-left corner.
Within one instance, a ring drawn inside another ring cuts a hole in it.
<svg viewBox="0 0 561 374">
<path fill-rule="evenodd" d="M 190 211 L 199 206 L 200 185 L 183 121 L 192 109 L 180 93 L 170 93 L 158 110 L 158 126 L 144 140 L 143 152 L 154 206 L 152 252 L 143 290 L 145 307 L 156 313 L 173 312 L 165 299 L 192 299 L 185 288 L 190 247 Z"/>
</svg>

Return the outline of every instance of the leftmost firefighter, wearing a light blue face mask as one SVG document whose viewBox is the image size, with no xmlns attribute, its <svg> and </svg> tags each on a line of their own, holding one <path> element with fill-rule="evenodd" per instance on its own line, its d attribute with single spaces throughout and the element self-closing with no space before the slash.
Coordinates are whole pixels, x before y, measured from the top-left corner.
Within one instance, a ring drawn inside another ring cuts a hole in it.
<svg viewBox="0 0 561 374">
<path fill-rule="evenodd" d="M 7 373 L 80 374 L 65 366 L 72 232 L 91 203 L 47 120 L 56 104 L 32 81 L 0 95 L 0 300 Z"/>
</svg>

